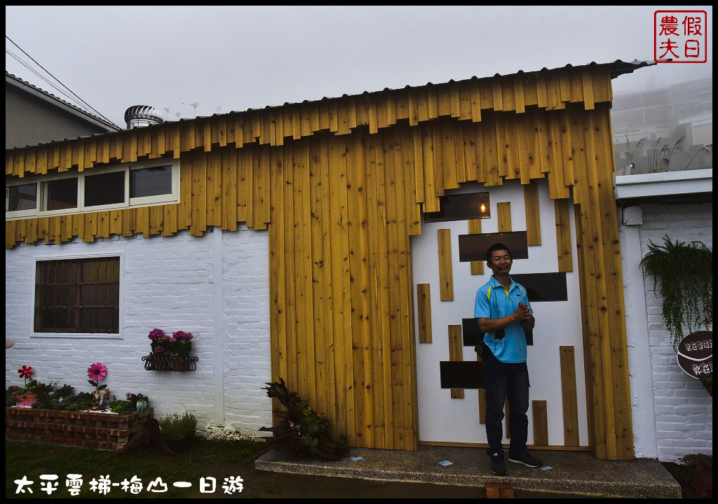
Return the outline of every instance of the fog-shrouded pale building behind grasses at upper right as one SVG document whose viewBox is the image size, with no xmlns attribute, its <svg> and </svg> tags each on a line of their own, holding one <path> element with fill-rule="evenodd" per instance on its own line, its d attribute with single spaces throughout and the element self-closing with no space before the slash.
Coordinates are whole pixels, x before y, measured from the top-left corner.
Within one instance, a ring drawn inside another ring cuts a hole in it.
<svg viewBox="0 0 718 504">
<path fill-rule="evenodd" d="M 694 155 L 713 143 L 713 78 L 615 96 L 611 125 L 619 170 L 631 161 L 635 164 L 633 173 L 680 171 L 689 163 L 690 169 L 709 168 L 710 156 L 700 153 L 694 158 Z M 663 146 L 673 150 L 683 136 L 682 150 L 676 148 L 672 156 L 670 152 L 666 155 L 666 151 L 661 155 Z M 641 139 L 643 148 L 636 149 Z M 666 158 L 670 158 L 670 163 L 661 161 Z"/>
</svg>

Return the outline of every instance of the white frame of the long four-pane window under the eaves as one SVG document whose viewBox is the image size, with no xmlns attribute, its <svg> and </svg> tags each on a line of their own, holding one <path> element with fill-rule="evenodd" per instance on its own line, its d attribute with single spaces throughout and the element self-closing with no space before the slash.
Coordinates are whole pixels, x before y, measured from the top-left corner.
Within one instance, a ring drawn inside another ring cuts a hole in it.
<svg viewBox="0 0 718 504">
<path fill-rule="evenodd" d="M 172 192 L 168 194 L 157 194 L 154 196 L 141 196 L 130 198 L 130 171 L 142 168 L 154 168 L 157 166 L 171 166 L 172 170 Z M 124 199 L 122 203 L 106 205 L 85 206 L 85 177 L 102 175 L 103 173 L 114 173 L 124 171 Z M 78 179 L 78 206 L 74 209 L 46 210 L 47 208 L 47 183 L 62 179 Z M 179 159 L 153 159 L 152 161 L 141 161 L 135 163 L 122 163 L 103 168 L 90 169 L 86 171 L 73 171 L 57 173 L 50 176 L 22 177 L 16 180 L 5 182 L 5 208 L 9 207 L 9 191 L 11 186 L 22 186 L 24 184 L 36 185 L 36 206 L 34 209 L 5 211 L 5 220 L 28 219 L 32 217 L 50 217 L 55 215 L 86 214 L 91 211 L 107 211 L 117 209 L 138 208 L 141 206 L 157 206 L 180 203 L 180 160 Z"/>
</svg>

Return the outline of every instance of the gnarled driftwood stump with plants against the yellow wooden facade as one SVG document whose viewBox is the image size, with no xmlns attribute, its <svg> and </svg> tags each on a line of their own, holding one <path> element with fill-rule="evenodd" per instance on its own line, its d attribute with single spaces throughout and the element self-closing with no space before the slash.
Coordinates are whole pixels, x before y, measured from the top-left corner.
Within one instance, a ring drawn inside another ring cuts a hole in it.
<svg viewBox="0 0 718 504">
<path fill-rule="evenodd" d="M 305 457 L 320 457 L 326 460 L 339 460 L 349 452 L 347 439 L 343 436 L 338 441 L 329 435 L 329 420 L 309 406 L 306 398 L 299 399 L 295 392 L 290 392 L 279 382 L 267 383 L 264 390 L 269 397 L 279 399 L 284 411 L 278 413 L 279 423 L 274 427 L 261 427 L 259 430 L 272 432 L 274 436 L 264 437 L 267 446 L 251 460 L 256 460 L 269 450 L 289 448 L 297 460 Z"/>
</svg>

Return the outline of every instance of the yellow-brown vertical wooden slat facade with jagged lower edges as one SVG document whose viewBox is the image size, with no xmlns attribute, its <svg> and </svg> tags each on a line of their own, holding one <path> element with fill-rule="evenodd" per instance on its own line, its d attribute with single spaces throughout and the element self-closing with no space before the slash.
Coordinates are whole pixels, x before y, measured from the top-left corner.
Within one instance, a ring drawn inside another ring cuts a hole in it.
<svg viewBox="0 0 718 504">
<path fill-rule="evenodd" d="M 597 457 L 630 459 L 611 99 L 610 67 L 590 65 L 14 149 L 6 180 L 178 158 L 180 202 L 8 220 L 5 244 L 269 227 L 271 379 L 309 397 L 353 446 L 416 450 L 409 236 L 462 182 L 546 178 L 551 199 L 574 198 L 589 439 Z"/>
</svg>

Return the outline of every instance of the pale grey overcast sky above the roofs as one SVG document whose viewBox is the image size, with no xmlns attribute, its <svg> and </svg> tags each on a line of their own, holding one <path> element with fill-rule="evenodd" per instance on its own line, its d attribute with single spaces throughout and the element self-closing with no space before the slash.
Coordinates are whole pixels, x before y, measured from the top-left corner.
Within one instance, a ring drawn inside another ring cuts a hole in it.
<svg viewBox="0 0 718 504">
<path fill-rule="evenodd" d="M 518 70 L 653 60 L 656 9 L 705 10 L 708 62 L 613 80 L 615 94 L 712 77 L 711 6 L 6 6 L 5 33 L 114 123 L 168 119 Z M 7 39 L 5 68 L 52 94 Z M 42 72 L 41 70 L 39 70 Z M 42 72 L 44 74 L 44 72 Z M 66 99 L 66 98 L 65 98 Z"/>
</svg>

